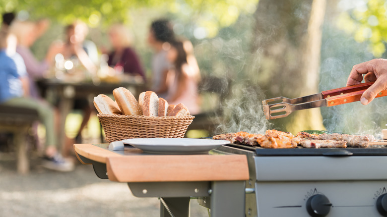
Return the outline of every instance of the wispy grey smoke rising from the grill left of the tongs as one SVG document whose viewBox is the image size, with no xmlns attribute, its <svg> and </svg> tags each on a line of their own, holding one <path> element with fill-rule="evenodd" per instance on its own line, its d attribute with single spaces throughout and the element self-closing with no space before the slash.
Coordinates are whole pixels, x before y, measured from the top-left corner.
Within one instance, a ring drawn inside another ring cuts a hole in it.
<svg viewBox="0 0 387 217">
<path fill-rule="evenodd" d="M 217 133 L 246 131 L 264 133 L 271 124 L 266 120 L 261 101 L 265 99 L 259 87 L 252 87 L 248 80 L 238 82 L 232 88 L 232 96 L 226 100 L 223 119 Z"/>
</svg>

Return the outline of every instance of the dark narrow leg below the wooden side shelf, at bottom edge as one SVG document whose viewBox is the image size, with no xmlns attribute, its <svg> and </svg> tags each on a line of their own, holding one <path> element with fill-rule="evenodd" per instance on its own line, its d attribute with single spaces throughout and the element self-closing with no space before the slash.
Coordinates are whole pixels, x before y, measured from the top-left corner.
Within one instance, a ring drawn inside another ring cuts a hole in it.
<svg viewBox="0 0 387 217">
<path fill-rule="evenodd" d="M 160 217 L 190 217 L 190 197 L 160 198 Z"/>
</svg>

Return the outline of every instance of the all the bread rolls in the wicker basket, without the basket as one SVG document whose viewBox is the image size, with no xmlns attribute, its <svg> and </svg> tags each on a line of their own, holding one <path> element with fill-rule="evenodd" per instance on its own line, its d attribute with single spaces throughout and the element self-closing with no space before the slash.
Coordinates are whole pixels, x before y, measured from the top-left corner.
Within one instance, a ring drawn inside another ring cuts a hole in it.
<svg viewBox="0 0 387 217">
<path fill-rule="evenodd" d="M 100 94 L 94 97 L 94 106 L 102 114 L 126 114 L 145 116 L 185 116 L 191 115 L 184 104 L 168 105 L 163 98 L 158 98 L 152 91 L 142 92 L 138 102 L 133 94 L 124 87 L 113 90 L 116 101 L 110 97 Z"/>
</svg>

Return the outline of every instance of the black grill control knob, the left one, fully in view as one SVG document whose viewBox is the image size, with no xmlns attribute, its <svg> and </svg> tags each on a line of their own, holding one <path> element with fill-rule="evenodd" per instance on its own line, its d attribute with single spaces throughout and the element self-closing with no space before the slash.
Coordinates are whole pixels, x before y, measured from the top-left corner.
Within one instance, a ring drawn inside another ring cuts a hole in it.
<svg viewBox="0 0 387 217">
<path fill-rule="evenodd" d="M 316 194 L 307 201 L 306 208 L 311 217 L 324 217 L 328 215 L 332 204 L 322 194 Z"/>
</svg>

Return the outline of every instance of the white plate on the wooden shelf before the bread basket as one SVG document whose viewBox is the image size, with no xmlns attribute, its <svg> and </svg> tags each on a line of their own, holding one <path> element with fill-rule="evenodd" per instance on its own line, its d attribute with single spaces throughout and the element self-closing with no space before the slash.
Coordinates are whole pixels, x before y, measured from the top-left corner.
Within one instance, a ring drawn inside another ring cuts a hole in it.
<svg viewBox="0 0 387 217">
<path fill-rule="evenodd" d="M 147 138 L 125 139 L 125 144 L 156 154 L 204 154 L 230 142 L 212 139 Z"/>
</svg>

